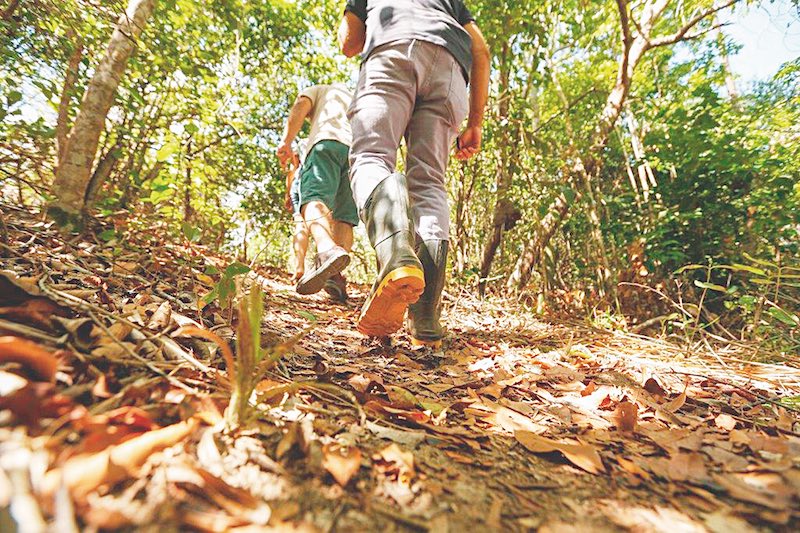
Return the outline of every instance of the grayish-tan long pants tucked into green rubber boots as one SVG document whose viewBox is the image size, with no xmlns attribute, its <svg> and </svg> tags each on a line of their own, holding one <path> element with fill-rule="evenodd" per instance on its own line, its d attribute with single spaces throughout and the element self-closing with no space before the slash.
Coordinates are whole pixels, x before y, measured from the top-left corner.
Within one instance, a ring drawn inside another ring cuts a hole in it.
<svg viewBox="0 0 800 533">
<path fill-rule="evenodd" d="M 408 40 L 373 50 L 361 65 L 348 110 L 350 182 L 359 213 L 375 187 L 395 172 L 405 138 L 414 229 L 423 240 L 449 240 L 445 170 L 467 110 L 466 80 L 447 49 Z"/>
</svg>

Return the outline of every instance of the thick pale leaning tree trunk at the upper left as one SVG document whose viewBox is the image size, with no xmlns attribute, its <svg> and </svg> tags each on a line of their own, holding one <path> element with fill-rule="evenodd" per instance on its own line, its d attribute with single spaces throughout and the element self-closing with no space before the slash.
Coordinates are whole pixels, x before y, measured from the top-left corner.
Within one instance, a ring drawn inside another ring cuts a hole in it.
<svg viewBox="0 0 800 533">
<path fill-rule="evenodd" d="M 79 226 L 86 210 L 92 167 L 106 115 L 114 103 L 128 58 L 153 13 L 155 0 L 129 0 L 117 22 L 108 48 L 83 96 L 78 116 L 56 171 L 53 193 L 56 201 L 48 212 L 60 223 Z"/>
</svg>

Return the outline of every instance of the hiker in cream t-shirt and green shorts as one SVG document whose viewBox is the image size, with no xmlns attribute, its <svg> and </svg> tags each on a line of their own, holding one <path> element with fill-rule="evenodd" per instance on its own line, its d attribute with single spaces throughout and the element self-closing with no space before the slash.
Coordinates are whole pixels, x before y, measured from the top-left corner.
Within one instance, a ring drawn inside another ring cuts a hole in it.
<svg viewBox="0 0 800 533">
<path fill-rule="evenodd" d="M 317 253 L 314 263 L 297 281 L 299 294 L 325 288 L 335 299 L 347 299 L 347 281 L 341 274 L 350 263 L 353 227 L 358 224 L 348 179 L 351 142 L 347 108 L 352 93 L 344 84 L 315 85 L 298 95 L 289 112 L 278 159 L 286 167 L 294 157 L 292 141 L 303 122 L 311 121 L 306 157 L 300 168 L 298 204 Z"/>
</svg>

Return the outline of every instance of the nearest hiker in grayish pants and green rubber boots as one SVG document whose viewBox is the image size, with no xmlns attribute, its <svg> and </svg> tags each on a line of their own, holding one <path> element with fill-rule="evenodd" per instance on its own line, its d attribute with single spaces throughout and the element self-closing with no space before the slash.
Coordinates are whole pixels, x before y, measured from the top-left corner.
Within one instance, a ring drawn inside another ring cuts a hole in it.
<svg viewBox="0 0 800 533">
<path fill-rule="evenodd" d="M 489 50 L 462 0 L 348 0 L 339 44 L 348 57 L 362 52 L 348 110 L 350 181 L 379 268 L 358 330 L 389 335 L 408 308 L 412 342 L 437 347 L 450 228 L 445 170 L 456 137 L 458 158 L 480 150 Z M 401 137 L 405 176 L 395 170 Z"/>
</svg>

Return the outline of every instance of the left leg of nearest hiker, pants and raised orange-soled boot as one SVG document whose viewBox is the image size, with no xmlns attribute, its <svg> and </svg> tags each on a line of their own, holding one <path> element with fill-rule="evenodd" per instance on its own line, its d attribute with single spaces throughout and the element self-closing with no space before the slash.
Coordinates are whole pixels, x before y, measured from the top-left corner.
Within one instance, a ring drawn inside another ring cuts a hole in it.
<svg viewBox="0 0 800 533">
<path fill-rule="evenodd" d="M 416 44 L 398 42 L 375 50 L 362 65 L 348 112 L 353 129 L 353 197 L 378 259 L 378 277 L 357 326 L 371 336 L 400 329 L 408 305 L 425 285 L 414 254 L 405 176 L 395 172 L 397 147 L 416 99 L 416 72 L 410 58 Z"/>
</svg>

